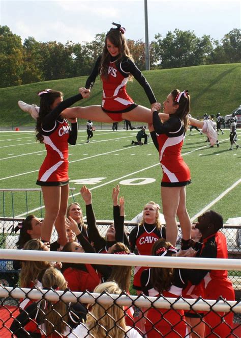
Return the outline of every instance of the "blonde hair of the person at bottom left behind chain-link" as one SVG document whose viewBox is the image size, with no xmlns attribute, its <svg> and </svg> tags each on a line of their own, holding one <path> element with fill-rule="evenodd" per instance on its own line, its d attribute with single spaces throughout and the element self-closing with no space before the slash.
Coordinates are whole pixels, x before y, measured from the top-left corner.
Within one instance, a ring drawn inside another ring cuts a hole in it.
<svg viewBox="0 0 241 338">
<path fill-rule="evenodd" d="M 55 268 L 46 270 L 42 278 L 43 288 L 64 291 L 67 289 L 67 282 L 63 274 Z M 61 335 L 68 323 L 68 306 L 63 300 L 49 301 L 41 300 L 38 318 L 44 323 L 46 336 L 53 333 Z"/>
</svg>

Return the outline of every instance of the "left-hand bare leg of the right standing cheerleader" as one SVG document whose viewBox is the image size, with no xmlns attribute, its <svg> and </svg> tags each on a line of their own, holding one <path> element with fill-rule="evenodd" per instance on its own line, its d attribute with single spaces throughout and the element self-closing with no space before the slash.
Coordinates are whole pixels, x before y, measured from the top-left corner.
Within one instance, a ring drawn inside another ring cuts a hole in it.
<svg viewBox="0 0 241 338">
<path fill-rule="evenodd" d="M 178 235 L 176 213 L 181 188 L 182 187 L 161 187 L 163 215 L 166 221 L 166 240 L 174 246 L 176 245 Z"/>
</svg>

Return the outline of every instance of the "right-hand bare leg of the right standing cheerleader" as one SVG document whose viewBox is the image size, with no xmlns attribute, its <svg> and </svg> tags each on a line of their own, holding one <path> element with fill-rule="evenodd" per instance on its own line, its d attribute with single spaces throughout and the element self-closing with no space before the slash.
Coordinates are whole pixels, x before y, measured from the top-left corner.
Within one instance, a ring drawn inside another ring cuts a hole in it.
<svg viewBox="0 0 241 338">
<path fill-rule="evenodd" d="M 186 209 L 186 187 L 181 187 L 179 205 L 177 208 L 177 217 L 182 228 L 183 239 L 189 240 L 191 238 L 191 221 Z"/>
</svg>

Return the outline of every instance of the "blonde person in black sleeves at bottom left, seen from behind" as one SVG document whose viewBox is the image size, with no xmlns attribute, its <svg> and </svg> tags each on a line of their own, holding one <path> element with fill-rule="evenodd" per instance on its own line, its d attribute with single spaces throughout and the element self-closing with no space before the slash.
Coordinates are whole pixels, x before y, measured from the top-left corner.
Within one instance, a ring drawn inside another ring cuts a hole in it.
<svg viewBox="0 0 241 338">
<path fill-rule="evenodd" d="M 49 268 L 42 278 L 43 288 L 66 290 L 67 283 L 62 273 Z M 86 318 L 87 310 L 81 303 L 66 303 L 63 300 L 50 301 L 43 299 L 25 308 L 13 321 L 10 330 L 17 338 L 35 338 L 68 336 L 73 327 Z M 36 322 L 34 331 L 26 325 Z"/>
</svg>

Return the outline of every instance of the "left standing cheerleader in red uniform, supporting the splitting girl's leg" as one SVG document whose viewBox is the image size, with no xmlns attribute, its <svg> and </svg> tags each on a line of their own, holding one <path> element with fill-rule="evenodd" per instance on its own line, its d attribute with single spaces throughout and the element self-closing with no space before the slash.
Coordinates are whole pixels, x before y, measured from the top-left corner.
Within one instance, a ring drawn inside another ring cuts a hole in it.
<svg viewBox="0 0 241 338">
<path fill-rule="evenodd" d="M 39 170 L 37 185 L 43 192 L 45 217 L 42 223 L 41 238 L 50 242 L 53 225 L 58 232 L 59 243 L 66 243 L 65 215 L 69 198 L 68 143 L 77 140 L 77 120 L 70 119 L 71 129 L 61 113 L 76 101 L 87 97 L 86 90 L 63 101 L 59 91 L 46 89 L 39 92 L 40 112 L 37 119 L 37 139 L 44 143 L 46 158 Z"/>
</svg>

